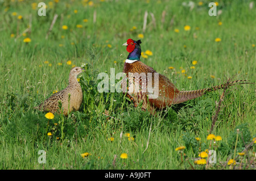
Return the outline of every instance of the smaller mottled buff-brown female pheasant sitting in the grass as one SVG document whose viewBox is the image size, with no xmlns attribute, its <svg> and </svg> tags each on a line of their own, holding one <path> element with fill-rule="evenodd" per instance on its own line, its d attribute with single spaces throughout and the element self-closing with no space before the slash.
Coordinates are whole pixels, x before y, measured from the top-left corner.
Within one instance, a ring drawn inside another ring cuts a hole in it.
<svg viewBox="0 0 256 181">
<path fill-rule="evenodd" d="M 82 73 L 84 69 L 80 67 L 72 68 L 69 73 L 69 84 L 64 90 L 61 90 L 51 97 L 46 99 L 42 104 L 36 109 L 40 111 L 48 111 L 51 113 L 55 113 L 59 110 L 59 101 L 62 103 L 63 113 L 65 116 L 68 115 L 69 111 L 77 111 L 79 110 L 81 103 L 82 103 L 82 89 L 77 81 L 77 75 Z M 70 100 L 68 101 L 68 95 L 70 94 Z"/>
</svg>

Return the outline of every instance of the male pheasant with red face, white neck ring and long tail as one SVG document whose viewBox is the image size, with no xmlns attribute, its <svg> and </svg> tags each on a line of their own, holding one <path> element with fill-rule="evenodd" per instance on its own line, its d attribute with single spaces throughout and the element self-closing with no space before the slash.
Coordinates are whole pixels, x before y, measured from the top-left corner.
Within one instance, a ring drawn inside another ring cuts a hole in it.
<svg viewBox="0 0 256 181">
<path fill-rule="evenodd" d="M 133 101 L 135 107 L 143 101 L 142 109 L 148 110 L 152 114 L 155 113 L 156 109 L 183 103 L 187 100 L 198 98 L 207 92 L 224 89 L 224 87 L 232 86 L 234 83 L 243 82 L 240 80 L 207 89 L 179 91 L 170 79 L 140 61 L 140 44 L 141 40 L 135 41 L 133 39 L 128 39 L 123 44 L 123 46 L 127 47 L 127 52 L 129 52 L 123 68 L 123 73 L 126 74 L 129 86 L 127 87 L 127 80 L 123 79 L 122 89 L 126 96 Z"/>
</svg>

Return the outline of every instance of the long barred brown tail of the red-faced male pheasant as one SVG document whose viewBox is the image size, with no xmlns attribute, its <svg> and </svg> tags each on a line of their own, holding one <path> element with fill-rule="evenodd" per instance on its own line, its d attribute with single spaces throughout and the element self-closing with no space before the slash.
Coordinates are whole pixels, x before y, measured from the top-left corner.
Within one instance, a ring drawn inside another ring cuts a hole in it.
<svg viewBox="0 0 256 181">
<path fill-rule="evenodd" d="M 242 83 L 238 83 L 238 82 L 242 82 Z M 238 81 L 226 82 L 221 85 L 213 86 L 213 87 L 206 88 L 206 89 L 199 89 L 199 90 L 192 90 L 192 91 L 180 91 L 179 93 L 177 93 L 175 95 L 173 103 L 174 104 L 183 103 L 187 100 L 198 98 L 198 97 L 206 94 L 207 92 L 212 92 L 212 91 L 224 89 L 224 87 L 230 87 L 233 85 L 246 84 L 246 83 L 250 83 L 250 82 L 247 82 L 247 80 L 238 80 Z"/>
</svg>

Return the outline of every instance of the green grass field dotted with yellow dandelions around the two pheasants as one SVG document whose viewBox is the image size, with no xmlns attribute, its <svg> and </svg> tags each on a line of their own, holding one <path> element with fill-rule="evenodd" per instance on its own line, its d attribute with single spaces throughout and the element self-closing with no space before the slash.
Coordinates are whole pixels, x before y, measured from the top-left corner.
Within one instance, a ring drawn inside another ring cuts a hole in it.
<svg viewBox="0 0 256 181">
<path fill-rule="evenodd" d="M 155 116 L 122 93 L 97 91 L 98 73 L 122 72 L 129 38 L 142 40 L 141 61 L 179 90 L 228 78 L 255 82 L 255 2 L 219 1 L 217 16 L 208 14 L 210 1 L 184 2 L 0 1 L 0 169 L 255 169 L 256 144 L 246 147 L 256 137 L 255 84 L 225 92 L 212 132 L 220 141 L 207 137 L 222 90 Z M 67 87 L 72 66 L 82 64 L 79 111 L 48 120 L 33 109 Z M 196 162 L 209 150 L 215 163 Z"/>
</svg>

